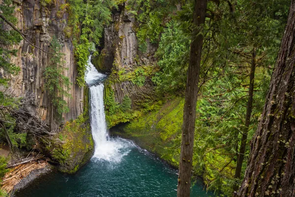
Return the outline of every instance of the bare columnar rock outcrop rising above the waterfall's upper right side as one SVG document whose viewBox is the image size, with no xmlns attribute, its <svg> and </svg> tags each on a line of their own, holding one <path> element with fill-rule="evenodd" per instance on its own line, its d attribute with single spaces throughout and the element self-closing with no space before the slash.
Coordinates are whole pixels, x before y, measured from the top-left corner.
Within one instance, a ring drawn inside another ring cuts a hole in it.
<svg viewBox="0 0 295 197">
<path fill-rule="evenodd" d="M 125 2 L 125 3 L 128 3 Z M 146 51 L 141 51 L 135 28 L 138 22 L 134 15 L 125 9 L 125 4 L 113 11 L 113 22 L 104 30 L 100 55 L 93 58 L 92 62 L 101 71 L 110 71 L 111 68 L 127 71 L 136 66 L 153 64 L 157 46 L 147 40 Z"/>
</svg>

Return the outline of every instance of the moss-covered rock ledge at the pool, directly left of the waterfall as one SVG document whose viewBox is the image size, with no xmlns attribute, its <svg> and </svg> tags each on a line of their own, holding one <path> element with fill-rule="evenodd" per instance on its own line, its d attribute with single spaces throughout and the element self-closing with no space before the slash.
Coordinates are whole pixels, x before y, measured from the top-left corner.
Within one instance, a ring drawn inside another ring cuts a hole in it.
<svg viewBox="0 0 295 197">
<path fill-rule="evenodd" d="M 59 133 L 41 140 L 42 152 L 57 164 L 60 172 L 77 172 L 94 152 L 89 121 L 89 88 L 85 87 L 84 90 L 84 113 L 77 119 L 66 122 Z"/>
</svg>

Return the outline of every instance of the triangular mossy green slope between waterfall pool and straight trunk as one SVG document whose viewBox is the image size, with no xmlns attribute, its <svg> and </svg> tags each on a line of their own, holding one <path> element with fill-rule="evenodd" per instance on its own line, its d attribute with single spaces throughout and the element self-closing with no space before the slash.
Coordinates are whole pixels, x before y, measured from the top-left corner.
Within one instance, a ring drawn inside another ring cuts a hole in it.
<svg viewBox="0 0 295 197">
<path fill-rule="evenodd" d="M 184 99 L 176 98 L 163 106 L 153 105 L 152 111 L 141 114 L 116 134 L 134 140 L 138 145 L 155 153 L 168 163 L 178 166 Z M 172 121 L 173 120 L 173 121 Z"/>
</svg>

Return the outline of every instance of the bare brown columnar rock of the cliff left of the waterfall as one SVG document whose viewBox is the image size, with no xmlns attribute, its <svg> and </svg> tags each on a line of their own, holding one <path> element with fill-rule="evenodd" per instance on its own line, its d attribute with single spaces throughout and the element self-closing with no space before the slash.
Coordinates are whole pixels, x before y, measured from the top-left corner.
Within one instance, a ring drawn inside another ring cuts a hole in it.
<svg viewBox="0 0 295 197">
<path fill-rule="evenodd" d="M 67 13 L 60 12 L 60 5 L 65 0 L 16 0 L 17 28 L 22 31 L 26 38 L 35 46 L 45 51 L 50 49 L 50 40 L 54 35 L 62 45 L 61 53 L 64 54 L 64 75 L 69 77 L 72 86 L 69 93 L 71 99 L 66 99 L 69 113 L 63 114 L 63 120 L 77 118 L 83 112 L 84 89 L 75 84 L 77 71 L 74 61 L 73 44 L 64 36 L 64 27 L 67 23 Z M 45 5 L 44 5 L 45 3 Z M 43 6 L 41 5 L 43 4 Z M 44 70 L 49 62 L 50 56 L 41 50 L 32 47 L 28 42 L 22 40 L 20 44 L 13 46 L 17 49 L 17 56 L 11 61 L 21 68 L 18 75 L 10 76 L 10 86 L 16 96 L 30 97 L 31 102 L 26 106 L 33 114 L 50 123 L 51 103 L 44 90 Z M 0 73 L 6 76 L 6 73 Z"/>
</svg>

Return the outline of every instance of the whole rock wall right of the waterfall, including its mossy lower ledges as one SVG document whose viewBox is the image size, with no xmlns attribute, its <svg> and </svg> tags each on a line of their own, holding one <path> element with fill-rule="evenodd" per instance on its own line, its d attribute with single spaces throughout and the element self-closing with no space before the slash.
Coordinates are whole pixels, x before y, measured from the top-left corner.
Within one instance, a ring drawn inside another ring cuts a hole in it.
<svg viewBox="0 0 295 197">
<path fill-rule="evenodd" d="M 105 82 L 109 127 L 139 116 L 139 111 L 155 100 L 151 75 L 157 69 L 154 57 L 157 45 L 146 40 L 145 49 L 141 49 L 136 35 L 139 23 L 126 9 L 127 3 L 112 11 L 112 23 L 104 29 L 100 54 L 92 58 L 98 70 L 110 73 Z M 124 97 L 131 99 L 131 111 L 120 110 Z"/>
</svg>

